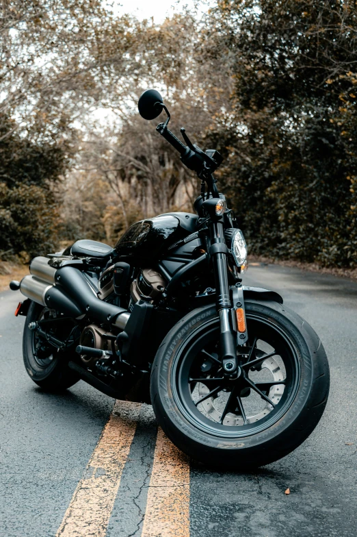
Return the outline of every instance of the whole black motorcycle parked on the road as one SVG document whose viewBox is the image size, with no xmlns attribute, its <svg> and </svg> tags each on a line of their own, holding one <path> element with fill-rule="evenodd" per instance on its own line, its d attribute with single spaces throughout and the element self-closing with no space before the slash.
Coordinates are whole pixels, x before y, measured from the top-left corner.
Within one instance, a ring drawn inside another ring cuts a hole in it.
<svg viewBox="0 0 357 537">
<path fill-rule="evenodd" d="M 139 100 L 157 132 L 201 179 L 196 214 L 133 224 L 112 248 L 77 240 L 32 260 L 23 358 L 45 390 L 79 379 L 116 399 L 152 403 L 159 425 L 196 460 L 246 469 L 287 455 L 313 431 L 328 398 L 326 353 L 276 292 L 241 284 L 247 247 L 217 190 L 222 163 L 181 129 L 156 90 Z"/>
</svg>

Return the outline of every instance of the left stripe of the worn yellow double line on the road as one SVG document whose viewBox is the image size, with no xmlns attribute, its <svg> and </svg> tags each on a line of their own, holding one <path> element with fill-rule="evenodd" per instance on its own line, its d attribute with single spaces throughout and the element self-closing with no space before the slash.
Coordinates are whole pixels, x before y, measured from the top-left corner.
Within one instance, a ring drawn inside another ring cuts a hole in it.
<svg viewBox="0 0 357 537">
<path fill-rule="evenodd" d="M 105 537 L 140 407 L 116 401 L 56 537 Z"/>
</svg>

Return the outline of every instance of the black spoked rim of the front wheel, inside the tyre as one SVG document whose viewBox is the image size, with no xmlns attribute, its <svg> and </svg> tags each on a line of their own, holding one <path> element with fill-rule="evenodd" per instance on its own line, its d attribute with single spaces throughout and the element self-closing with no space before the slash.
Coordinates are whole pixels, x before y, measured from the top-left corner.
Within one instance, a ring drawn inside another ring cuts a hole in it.
<svg viewBox="0 0 357 537">
<path fill-rule="evenodd" d="M 237 379 L 223 374 L 218 317 L 191 334 L 172 367 L 172 393 L 179 410 L 213 436 L 239 438 L 271 427 L 290 408 L 300 384 L 298 351 L 291 337 L 272 319 L 254 314 L 246 318 L 249 341 L 237 351 Z M 259 401 L 261 408 L 254 414 Z"/>
</svg>

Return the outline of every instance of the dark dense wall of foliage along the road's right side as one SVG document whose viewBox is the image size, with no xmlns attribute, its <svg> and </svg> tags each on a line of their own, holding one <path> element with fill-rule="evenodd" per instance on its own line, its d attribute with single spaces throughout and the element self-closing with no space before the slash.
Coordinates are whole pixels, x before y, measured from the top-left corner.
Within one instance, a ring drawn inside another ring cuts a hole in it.
<svg viewBox="0 0 357 537">
<path fill-rule="evenodd" d="M 207 137 L 250 251 L 356 266 L 356 4 L 220 1 L 212 16 L 206 53 L 235 88 Z"/>
</svg>

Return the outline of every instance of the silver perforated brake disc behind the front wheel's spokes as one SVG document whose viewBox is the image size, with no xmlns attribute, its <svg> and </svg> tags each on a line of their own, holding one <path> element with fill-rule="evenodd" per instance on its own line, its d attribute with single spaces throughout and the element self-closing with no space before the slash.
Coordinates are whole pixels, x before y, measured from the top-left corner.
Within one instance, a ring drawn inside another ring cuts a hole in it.
<svg viewBox="0 0 357 537">
<path fill-rule="evenodd" d="M 285 388 L 284 384 L 278 384 L 280 381 L 282 381 L 282 379 L 284 379 L 284 373 L 280 368 L 278 362 L 274 358 L 268 358 L 267 360 L 262 362 L 261 371 L 263 371 L 263 369 L 266 369 L 272 374 L 272 381 L 276 381 L 276 385 L 270 388 L 267 397 L 269 397 L 269 399 L 271 399 L 274 403 L 278 403 L 282 397 Z M 252 380 L 254 382 L 254 379 Z M 194 389 L 194 392 L 192 393 L 192 395 L 194 396 L 193 400 L 198 401 L 199 399 L 204 397 L 204 395 L 207 395 L 209 391 L 209 388 L 205 384 L 199 382 Z M 202 414 L 208 419 L 220 423 L 222 410 L 229 395 L 229 391 L 222 390 L 222 392 L 220 392 L 217 397 L 209 397 L 209 399 L 206 399 L 205 401 L 202 401 L 202 403 L 199 403 L 198 408 L 200 412 L 202 412 Z M 250 396 L 248 396 L 247 399 L 249 399 L 249 397 Z M 272 410 L 274 409 L 273 405 L 270 405 L 267 401 L 263 401 L 263 399 L 261 399 L 261 401 L 263 408 L 259 410 L 259 412 L 257 412 L 256 414 L 251 414 L 250 416 L 247 414 L 248 423 L 254 423 L 256 421 L 259 421 L 267 414 L 269 414 L 269 412 L 272 412 Z M 224 418 L 222 425 L 244 425 L 243 418 L 239 414 L 233 414 L 233 412 L 228 412 L 228 414 L 226 414 L 226 417 Z"/>
</svg>

